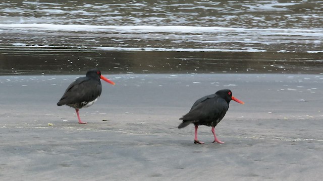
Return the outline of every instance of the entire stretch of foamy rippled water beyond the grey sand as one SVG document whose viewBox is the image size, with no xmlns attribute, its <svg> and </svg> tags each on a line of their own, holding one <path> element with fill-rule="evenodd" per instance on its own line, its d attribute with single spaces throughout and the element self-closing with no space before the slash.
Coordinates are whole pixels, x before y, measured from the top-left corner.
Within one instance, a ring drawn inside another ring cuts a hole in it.
<svg viewBox="0 0 323 181">
<path fill-rule="evenodd" d="M 323 73 L 322 1 L 6 1 L 0 73 Z"/>
</svg>

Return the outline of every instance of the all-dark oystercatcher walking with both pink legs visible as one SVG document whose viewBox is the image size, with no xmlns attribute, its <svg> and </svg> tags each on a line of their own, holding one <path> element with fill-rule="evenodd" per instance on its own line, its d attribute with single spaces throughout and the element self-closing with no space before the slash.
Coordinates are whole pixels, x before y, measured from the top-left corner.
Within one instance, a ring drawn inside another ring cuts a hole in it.
<svg viewBox="0 0 323 181">
<path fill-rule="evenodd" d="M 184 128 L 190 123 L 193 123 L 195 125 L 194 143 L 204 144 L 197 139 L 198 125 L 211 126 L 211 131 L 214 135 L 213 143 L 224 143 L 217 138 L 214 127 L 216 127 L 226 115 L 231 100 L 244 104 L 244 102 L 233 97 L 232 92 L 229 89 L 222 89 L 216 92 L 216 94 L 204 96 L 203 98 L 198 99 L 193 104 L 189 113 L 180 118 L 183 122 L 178 126 L 178 128 Z"/>
</svg>

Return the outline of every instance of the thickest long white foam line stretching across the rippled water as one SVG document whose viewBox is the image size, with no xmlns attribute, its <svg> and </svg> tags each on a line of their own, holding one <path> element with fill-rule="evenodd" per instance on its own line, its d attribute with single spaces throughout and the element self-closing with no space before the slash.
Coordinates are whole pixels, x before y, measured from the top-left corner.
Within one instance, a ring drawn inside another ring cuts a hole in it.
<svg viewBox="0 0 323 181">
<path fill-rule="evenodd" d="M 55 25 L 55 24 L 0 24 L 0 28 L 46 29 L 51 31 L 106 31 L 106 32 L 142 32 L 142 33 L 215 33 L 241 32 L 268 35 L 323 36 L 320 29 L 279 29 L 279 28 L 225 28 L 201 26 L 97 26 L 97 25 Z"/>
</svg>

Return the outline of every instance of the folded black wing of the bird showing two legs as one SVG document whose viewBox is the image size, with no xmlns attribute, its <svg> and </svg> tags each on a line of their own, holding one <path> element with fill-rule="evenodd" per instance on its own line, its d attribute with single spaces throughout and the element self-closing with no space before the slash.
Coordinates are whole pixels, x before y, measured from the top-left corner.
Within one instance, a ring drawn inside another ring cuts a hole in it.
<svg viewBox="0 0 323 181">
<path fill-rule="evenodd" d="M 217 98 L 216 96 L 212 98 L 203 97 L 195 103 L 189 113 L 180 118 L 180 120 L 215 120 L 216 118 L 221 120 L 229 108 L 228 103 L 224 99 Z"/>
</svg>

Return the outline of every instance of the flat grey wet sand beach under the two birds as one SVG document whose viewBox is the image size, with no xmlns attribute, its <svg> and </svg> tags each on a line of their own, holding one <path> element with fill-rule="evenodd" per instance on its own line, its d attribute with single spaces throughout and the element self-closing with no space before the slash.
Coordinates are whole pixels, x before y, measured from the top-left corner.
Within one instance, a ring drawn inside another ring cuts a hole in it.
<svg viewBox="0 0 323 181">
<path fill-rule="evenodd" d="M 0 76 L 3 180 L 320 180 L 321 74 L 104 74 L 102 95 L 56 103 L 75 75 Z M 79 75 L 82 76 L 82 75 Z M 178 129 L 195 100 L 230 88 L 216 127 Z M 48 123 L 53 124 L 49 126 Z"/>
</svg>

